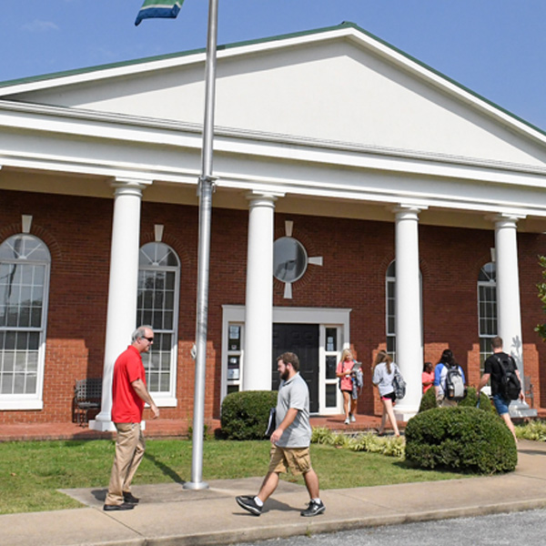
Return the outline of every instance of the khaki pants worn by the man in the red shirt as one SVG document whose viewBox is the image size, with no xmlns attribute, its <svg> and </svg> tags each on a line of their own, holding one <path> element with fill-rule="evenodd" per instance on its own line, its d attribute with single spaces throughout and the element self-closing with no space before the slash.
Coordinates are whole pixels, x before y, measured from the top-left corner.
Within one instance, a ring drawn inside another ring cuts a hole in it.
<svg viewBox="0 0 546 546">
<path fill-rule="evenodd" d="M 144 457 L 146 442 L 140 423 L 114 423 L 117 430 L 116 456 L 105 504 L 121 504 L 123 494 L 131 490 L 131 481 Z"/>
</svg>

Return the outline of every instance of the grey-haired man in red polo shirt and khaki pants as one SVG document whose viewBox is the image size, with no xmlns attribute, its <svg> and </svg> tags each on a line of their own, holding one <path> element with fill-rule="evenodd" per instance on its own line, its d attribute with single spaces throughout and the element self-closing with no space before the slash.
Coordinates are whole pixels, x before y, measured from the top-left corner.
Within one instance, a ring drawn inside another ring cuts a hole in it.
<svg viewBox="0 0 546 546">
<path fill-rule="evenodd" d="M 146 372 L 142 364 L 143 352 L 148 352 L 154 342 L 154 331 L 149 326 L 139 326 L 132 343 L 119 355 L 114 365 L 112 381 L 112 420 L 116 425 L 116 456 L 110 475 L 104 510 L 132 510 L 138 499 L 131 493 L 131 481 L 144 457 L 146 443 L 140 429 L 145 402 L 159 417 L 154 400 L 146 386 Z"/>
</svg>

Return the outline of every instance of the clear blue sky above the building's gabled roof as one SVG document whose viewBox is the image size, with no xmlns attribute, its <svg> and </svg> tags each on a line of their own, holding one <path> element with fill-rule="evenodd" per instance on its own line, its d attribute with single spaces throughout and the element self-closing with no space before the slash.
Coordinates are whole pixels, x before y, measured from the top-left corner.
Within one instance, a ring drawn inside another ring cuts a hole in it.
<svg viewBox="0 0 546 546">
<path fill-rule="evenodd" d="M 351 21 L 546 130 L 545 0 L 218 1 L 218 44 Z M 136 27 L 140 5 L 6 2 L 0 81 L 205 47 L 208 0 Z"/>
</svg>

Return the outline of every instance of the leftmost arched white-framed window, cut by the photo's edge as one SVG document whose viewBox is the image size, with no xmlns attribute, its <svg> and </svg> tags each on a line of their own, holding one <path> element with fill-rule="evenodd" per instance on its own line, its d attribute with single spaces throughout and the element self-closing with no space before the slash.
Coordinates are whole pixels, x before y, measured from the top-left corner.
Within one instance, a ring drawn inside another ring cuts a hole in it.
<svg viewBox="0 0 546 546">
<path fill-rule="evenodd" d="M 0 410 L 42 409 L 51 256 L 19 234 L 0 245 Z"/>
</svg>

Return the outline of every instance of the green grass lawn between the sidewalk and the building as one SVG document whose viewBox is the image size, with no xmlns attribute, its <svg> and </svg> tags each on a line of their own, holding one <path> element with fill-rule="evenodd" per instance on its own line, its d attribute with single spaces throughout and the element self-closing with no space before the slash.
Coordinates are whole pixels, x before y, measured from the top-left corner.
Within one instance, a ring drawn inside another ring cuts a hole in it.
<svg viewBox="0 0 546 546">
<path fill-rule="evenodd" d="M 203 454 L 205 480 L 263 476 L 269 442 L 208 440 Z M 0 443 L 0 513 L 64 510 L 81 506 L 57 489 L 105 488 L 112 440 L 25 441 Z M 343 489 L 411 481 L 450 480 L 463 475 L 413 469 L 403 460 L 377 453 L 311 445 L 321 489 Z M 147 440 L 135 483 L 189 480 L 191 441 Z M 301 478 L 284 479 L 303 483 Z"/>
</svg>

